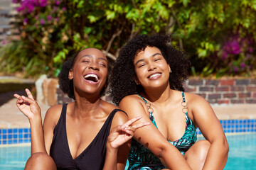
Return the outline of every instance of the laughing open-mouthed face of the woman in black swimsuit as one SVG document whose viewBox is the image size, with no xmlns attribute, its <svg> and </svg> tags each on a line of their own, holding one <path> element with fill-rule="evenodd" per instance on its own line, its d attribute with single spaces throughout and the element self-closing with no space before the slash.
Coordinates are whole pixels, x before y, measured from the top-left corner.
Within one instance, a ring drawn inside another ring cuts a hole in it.
<svg viewBox="0 0 256 170">
<path fill-rule="evenodd" d="M 87 48 L 75 57 L 68 79 L 73 79 L 76 92 L 99 94 L 107 79 L 107 58 L 95 48 Z"/>
</svg>

